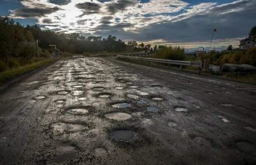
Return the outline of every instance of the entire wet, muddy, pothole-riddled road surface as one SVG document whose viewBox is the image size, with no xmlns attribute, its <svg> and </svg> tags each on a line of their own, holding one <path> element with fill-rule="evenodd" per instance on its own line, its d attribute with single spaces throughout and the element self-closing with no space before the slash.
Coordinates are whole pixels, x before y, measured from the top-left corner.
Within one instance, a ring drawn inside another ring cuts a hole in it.
<svg viewBox="0 0 256 165">
<path fill-rule="evenodd" d="M 1 165 L 256 164 L 256 87 L 115 59 L 0 94 Z"/>
</svg>

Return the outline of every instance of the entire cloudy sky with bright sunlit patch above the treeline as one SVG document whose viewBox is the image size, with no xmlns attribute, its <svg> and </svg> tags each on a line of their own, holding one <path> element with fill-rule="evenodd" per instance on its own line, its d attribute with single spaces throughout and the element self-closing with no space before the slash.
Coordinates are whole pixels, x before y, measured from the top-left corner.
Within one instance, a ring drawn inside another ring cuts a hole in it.
<svg viewBox="0 0 256 165">
<path fill-rule="evenodd" d="M 256 26 L 256 0 L 0 0 L 0 15 L 23 25 L 109 34 L 128 41 L 185 48 L 237 47 Z"/>
</svg>

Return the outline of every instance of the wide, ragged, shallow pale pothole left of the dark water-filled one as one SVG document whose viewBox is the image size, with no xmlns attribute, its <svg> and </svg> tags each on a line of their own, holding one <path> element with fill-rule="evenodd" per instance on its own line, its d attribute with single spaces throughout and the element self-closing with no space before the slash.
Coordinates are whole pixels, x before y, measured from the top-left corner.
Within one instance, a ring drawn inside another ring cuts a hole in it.
<svg viewBox="0 0 256 165">
<path fill-rule="evenodd" d="M 55 123 L 52 124 L 52 128 L 54 132 L 59 132 L 62 133 L 64 131 L 78 131 L 78 130 L 84 130 L 86 127 L 83 125 L 78 125 L 78 124 L 67 124 L 67 123 Z"/>
</svg>

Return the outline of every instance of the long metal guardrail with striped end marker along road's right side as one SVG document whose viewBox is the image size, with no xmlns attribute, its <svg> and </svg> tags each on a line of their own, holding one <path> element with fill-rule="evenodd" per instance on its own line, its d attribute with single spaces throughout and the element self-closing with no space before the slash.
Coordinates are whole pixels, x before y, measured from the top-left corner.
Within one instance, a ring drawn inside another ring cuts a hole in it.
<svg viewBox="0 0 256 165">
<path fill-rule="evenodd" d="M 149 65 L 151 65 L 152 62 L 156 63 L 158 66 L 159 64 L 173 64 L 173 65 L 179 65 L 180 69 L 183 68 L 183 66 L 194 66 L 198 68 L 198 74 L 201 72 L 203 68 L 203 61 L 176 61 L 176 60 L 167 60 L 167 59 L 152 59 L 152 58 L 142 58 L 142 57 L 130 57 L 130 56 L 122 56 L 117 55 L 118 59 L 126 59 L 126 60 L 137 60 L 137 61 L 147 61 L 149 62 Z"/>
</svg>

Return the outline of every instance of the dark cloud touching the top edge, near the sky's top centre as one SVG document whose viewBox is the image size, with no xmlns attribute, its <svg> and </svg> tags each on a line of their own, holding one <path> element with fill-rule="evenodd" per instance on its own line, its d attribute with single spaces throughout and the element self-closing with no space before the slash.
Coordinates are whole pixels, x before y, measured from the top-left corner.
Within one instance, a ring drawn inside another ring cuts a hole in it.
<svg viewBox="0 0 256 165">
<path fill-rule="evenodd" d="M 123 11 L 126 7 L 134 6 L 137 4 L 136 0 L 118 0 L 114 3 L 107 5 L 107 10 L 110 14 L 115 14 L 116 12 Z"/>
</svg>

